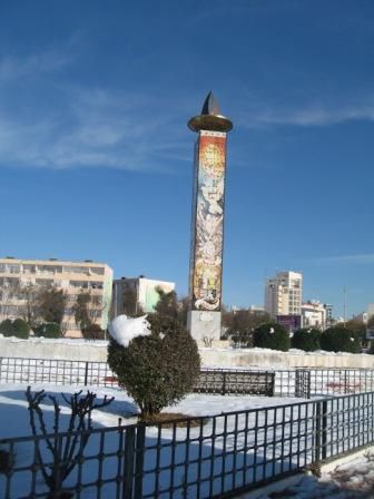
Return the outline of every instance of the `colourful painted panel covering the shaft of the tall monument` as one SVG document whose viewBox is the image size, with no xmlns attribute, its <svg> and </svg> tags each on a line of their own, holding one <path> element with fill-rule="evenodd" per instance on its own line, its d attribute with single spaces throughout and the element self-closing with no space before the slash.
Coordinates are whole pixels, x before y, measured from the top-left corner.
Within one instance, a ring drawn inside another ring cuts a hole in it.
<svg viewBox="0 0 374 499">
<path fill-rule="evenodd" d="M 224 237 L 226 134 L 201 130 L 196 154 L 193 310 L 219 311 Z"/>
</svg>

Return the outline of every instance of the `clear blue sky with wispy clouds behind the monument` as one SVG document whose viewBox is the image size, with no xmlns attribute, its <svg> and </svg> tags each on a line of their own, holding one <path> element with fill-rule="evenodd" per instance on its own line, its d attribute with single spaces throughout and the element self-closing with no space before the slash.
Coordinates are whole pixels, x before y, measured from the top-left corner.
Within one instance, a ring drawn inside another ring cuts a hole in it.
<svg viewBox="0 0 374 499">
<path fill-rule="evenodd" d="M 92 258 L 187 293 L 193 145 L 211 89 L 229 134 L 224 302 L 304 273 L 374 302 L 374 3 L 0 3 L 1 254 Z"/>
</svg>

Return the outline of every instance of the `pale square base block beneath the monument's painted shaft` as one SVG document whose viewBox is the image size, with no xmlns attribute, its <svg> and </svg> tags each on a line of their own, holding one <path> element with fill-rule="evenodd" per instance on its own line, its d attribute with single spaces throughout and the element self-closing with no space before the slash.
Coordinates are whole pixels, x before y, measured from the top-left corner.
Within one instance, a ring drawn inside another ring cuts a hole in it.
<svg viewBox="0 0 374 499">
<path fill-rule="evenodd" d="M 187 314 L 187 329 L 196 341 L 209 343 L 213 340 L 219 340 L 220 312 L 193 310 Z"/>
</svg>

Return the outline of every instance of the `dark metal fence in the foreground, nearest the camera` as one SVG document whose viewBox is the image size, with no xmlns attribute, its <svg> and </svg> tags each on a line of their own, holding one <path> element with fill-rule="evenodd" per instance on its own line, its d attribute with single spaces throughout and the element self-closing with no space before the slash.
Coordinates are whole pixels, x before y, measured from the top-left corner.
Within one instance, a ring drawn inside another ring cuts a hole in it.
<svg viewBox="0 0 374 499">
<path fill-rule="evenodd" d="M 48 492 L 42 467 L 58 473 L 67 463 L 66 439 L 77 438 L 79 448 L 87 436 L 62 487 L 75 499 L 229 497 L 373 443 L 374 393 L 53 433 L 55 456 L 45 437 L 0 440 L 10 463 L 0 474 L 0 497 L 68 497 Z"/>
</svg>

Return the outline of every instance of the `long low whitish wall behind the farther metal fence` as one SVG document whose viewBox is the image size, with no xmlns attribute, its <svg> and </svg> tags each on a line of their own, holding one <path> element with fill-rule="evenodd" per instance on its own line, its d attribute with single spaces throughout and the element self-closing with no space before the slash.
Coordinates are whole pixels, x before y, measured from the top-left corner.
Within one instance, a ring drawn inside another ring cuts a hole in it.
<svg viewBox="0 0 374 499">
<path fill-rule="evenodd" d="M 348 353 L 306 353 L 301 351 L 278 352 L 263 349 L 200 348 L 201 364 L 207 368 L 371 368 L 374 355 Z M 66 359 L 106 362 L 106 341 L 85 340 L 18 340 L 0 335 L 0 356 L 35 359 Z"/>
</svg>

